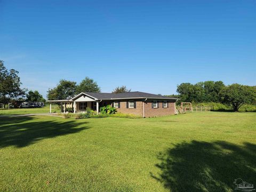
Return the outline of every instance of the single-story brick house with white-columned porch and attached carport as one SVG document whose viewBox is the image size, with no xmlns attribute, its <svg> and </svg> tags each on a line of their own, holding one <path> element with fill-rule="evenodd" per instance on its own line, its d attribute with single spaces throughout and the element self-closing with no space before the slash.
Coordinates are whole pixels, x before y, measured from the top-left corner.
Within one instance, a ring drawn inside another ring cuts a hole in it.
<svg viewBox="0 0 256 192">
<path fill-rule="evenodd" d="M 127 93 L 82 92 L 71 99 L 48 102 L 50 102 L 50 113 L 51 103 L 60 102 L 63 112 L 68 106 L 73 109 L 74 113 L 81 113 L 87 107 L 99 113 L 100 107 L 111 105 L 120 113 L 155 117 L 175 114 L 175 102 L 177 100 L 177 98 L 135 91 Z"/>
</svg>

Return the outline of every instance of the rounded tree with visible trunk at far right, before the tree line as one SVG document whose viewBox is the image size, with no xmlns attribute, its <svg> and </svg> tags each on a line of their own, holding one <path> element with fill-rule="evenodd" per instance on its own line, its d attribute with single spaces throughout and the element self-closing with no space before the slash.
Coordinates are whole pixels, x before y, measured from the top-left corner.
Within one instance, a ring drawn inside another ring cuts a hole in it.
<svg viewBox="0 0 256 192">
<path fill-rule="evenodd" d="M 234 111 L 245 103 L 253 103 L 256 100 L 256 91 L 251 86 L 232 84 L 224 87 L 220 93 L 223 102 L 232 106 Z"/>
</svg>

